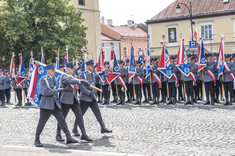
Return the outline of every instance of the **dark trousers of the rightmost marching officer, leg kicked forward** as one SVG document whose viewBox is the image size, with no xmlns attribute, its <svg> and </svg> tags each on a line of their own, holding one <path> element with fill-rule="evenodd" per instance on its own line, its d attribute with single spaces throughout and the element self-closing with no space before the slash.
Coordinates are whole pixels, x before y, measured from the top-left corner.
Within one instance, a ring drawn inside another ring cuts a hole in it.
<svg viewBox="0 0 235 156">
<path fill-rule="evenodd" d="M 87 109 L 90 107 L 97 121 L 99 122 L 100 127 L 101 128 L 105 127 L 102 116 L 101 116 L 100 108 L 95 99 L 92 102 L 80 100 L 80 104 L 81 104 L 81 109 L 82 109 L 82 115 L 84 115 Z"/>
</svg>

